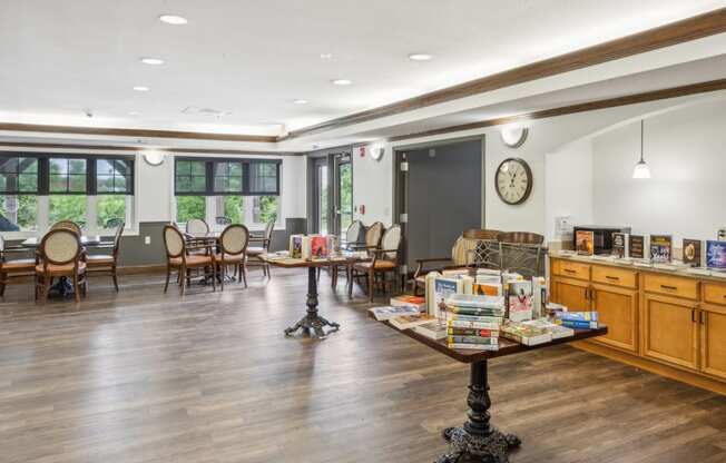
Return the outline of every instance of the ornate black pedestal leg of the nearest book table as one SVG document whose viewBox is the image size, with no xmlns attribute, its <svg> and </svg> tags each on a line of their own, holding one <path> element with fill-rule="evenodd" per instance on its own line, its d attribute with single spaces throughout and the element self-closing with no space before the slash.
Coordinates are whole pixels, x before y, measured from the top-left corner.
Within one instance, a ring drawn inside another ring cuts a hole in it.
<svg viewBox="0 0 726 463">
<path fill-rule="evenodd" d="M 521 444 L 513 434 L 503 434 L 490 423 L 489 383 L 487 361 L 471 364 L 469 384 L 469 420 L 462 427 L 444 430 L 443 437 L 449 442 L 449 452 L 436 463 L 508 463 L 510 450 Z"/>
</svg>

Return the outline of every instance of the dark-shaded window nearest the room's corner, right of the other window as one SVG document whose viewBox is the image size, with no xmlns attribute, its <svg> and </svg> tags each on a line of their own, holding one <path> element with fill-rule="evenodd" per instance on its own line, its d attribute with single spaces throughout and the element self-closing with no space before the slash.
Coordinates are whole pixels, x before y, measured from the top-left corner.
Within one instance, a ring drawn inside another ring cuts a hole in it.
<svg viewBox="0 0 726 463">
<path fill-rule="evenodd" d="M 176 220 L 216 217 L 262 228 L 281 220 L 279 161 L 269 159 L 177 158 L 175 162 Z"/>
</svg>

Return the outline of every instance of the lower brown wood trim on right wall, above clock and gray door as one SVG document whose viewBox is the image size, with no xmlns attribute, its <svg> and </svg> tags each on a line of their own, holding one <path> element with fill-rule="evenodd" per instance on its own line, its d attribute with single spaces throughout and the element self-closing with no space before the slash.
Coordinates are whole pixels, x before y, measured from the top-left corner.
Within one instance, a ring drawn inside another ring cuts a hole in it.
<svg viewBox="0 0 726 463">
<path fill-rule="evenodd" d="M 411 138 L 432 137 L 435 135 L 451 134 L 457 131 L 481 129 L 485 127 L 501 126 L 522 120 L 547 119 L 550 117 L 572 115 L 577 112 L 595 111 L 598 109 L 616 108 L 620 106 L 636 105 L 640 102 L 665 100 L 669 98 L 686 97 L 689 95 L 707 93 L 712 91 L 726 90 L 726 79 L 710 80 L 706 82 L 691 83 L 680 87 L 671 87 L 660 90 L 632 93 L 622 97 L 608 98 L 602 100 L 588 101 L 577 105 L 562 106 L 559 108 L 542 109 L 540 111 L 524 112 L 521 115 L 501 117 L 496 119 L 481 120 L 477 122 L 461 124 L 457 126 L 441 127 L 420 131 L 415 134 L 399 135 L 386 138 L 386 141 L 400 141 Z"/>
</svg>

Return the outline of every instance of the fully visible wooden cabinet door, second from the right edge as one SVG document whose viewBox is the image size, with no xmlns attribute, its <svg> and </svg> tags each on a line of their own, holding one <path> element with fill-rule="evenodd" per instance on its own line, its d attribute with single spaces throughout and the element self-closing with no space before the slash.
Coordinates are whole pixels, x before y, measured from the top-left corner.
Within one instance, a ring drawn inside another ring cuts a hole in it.
<svg viewBox="0 0 726 463">
<path fill-rule="evenodd" d="M 695 303 L 642 296 L 642 355 L 698 368 L 698 309 Z"/>
</svg>

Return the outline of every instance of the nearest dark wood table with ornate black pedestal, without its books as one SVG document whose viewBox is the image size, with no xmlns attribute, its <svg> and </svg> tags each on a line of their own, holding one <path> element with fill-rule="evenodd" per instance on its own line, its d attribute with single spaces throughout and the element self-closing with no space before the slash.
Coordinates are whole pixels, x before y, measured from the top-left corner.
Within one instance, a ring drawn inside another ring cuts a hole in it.
<svg viewBox="0 0 726 463">
<path fill-rule="evenodd" d="M 384 323 L 393 328 L 387 322 Z M 412 329 L 401 331 L 406 336 L 458 362 L 470 364 L 471 380 L 469 382 L 469 395 L 467 396 L 467 404 L 469 405 L 468 420 L 461 427 L 449 427 L 443 431 L 443 437 L 449 442 L 449 451 L 441 455 L 436 463 L 507 463 L 509 462 L 510 450 L 521 444 L 520 439 L 516 435 L 504 434 L 490 424 L 489 408 L 491 407 L 491 400 L 489 398 L 487 371 L 489 358 L 587 339 L 601 336 L 607 332 L 608 328 L 605 326 L 597 329 L 575 329 L 575 336 L 536 346 L 526 346 L 500 337 L 499 351 L 460 351 L 449 348 L 445 341 L 431 339 Z"/>
</svg>

